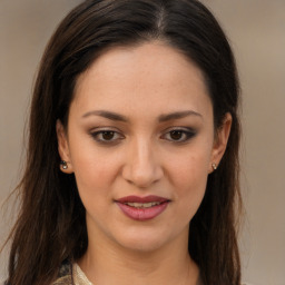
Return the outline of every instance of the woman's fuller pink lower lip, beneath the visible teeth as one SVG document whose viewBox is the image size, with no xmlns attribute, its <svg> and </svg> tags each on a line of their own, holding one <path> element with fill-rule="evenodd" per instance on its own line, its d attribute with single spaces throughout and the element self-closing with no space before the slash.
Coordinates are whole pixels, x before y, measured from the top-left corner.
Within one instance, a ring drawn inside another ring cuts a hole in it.
<svg viewBox="0 0 285 285">
<path fill-rule="evenodd" d="M 122 210 L 122 213 L 129 218 L 132 218 L 136 220 L 148 220 L 160 215 L 168 206 L 168 203 L 169 202 L 165 202 L 149 208 L 135 208 L 118 202 L 117 202 L 117 205 Z"/>
</svg>

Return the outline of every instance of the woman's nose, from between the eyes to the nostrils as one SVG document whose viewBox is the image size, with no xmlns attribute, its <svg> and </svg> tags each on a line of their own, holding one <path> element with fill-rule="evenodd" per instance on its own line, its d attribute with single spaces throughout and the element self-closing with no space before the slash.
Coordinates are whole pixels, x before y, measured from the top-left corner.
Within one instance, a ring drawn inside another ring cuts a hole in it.
<svg viewBox="0 0 285 285">
<path fill-rule="evenodd" d="M 148 188 L 164 176 L 163 167 L 151 144 L 136 141 L 129 146 L 122 177 L 138 188 Z"/>
</svg>

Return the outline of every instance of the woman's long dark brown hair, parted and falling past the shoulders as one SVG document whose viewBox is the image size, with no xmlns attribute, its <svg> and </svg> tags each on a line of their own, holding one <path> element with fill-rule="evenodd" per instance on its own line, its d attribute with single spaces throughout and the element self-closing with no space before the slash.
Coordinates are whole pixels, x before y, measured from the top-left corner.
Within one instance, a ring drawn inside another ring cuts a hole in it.
<svg viewBox="0 0 285 285">
<path fill-rule="evenodd" d="M 191 220 L 188 248 L 205 285 L 240 284 L 238 79 L 220 26 L 196 0 L 87 0 L 56 30 L 33 91 L 26 173 L 18 188 L 21 208 L 10 234 L 8 284 L 50 284 L 65 259 L 85 254 L 85 208 L 75 176 L 59 170 L 56 121 L 67 126 L 77 78 L 102 51 L 151 40 L 176 48 L 200 68 L 216 129 L 226 112 L 233 117 L 226 153 L 209 175 L 205 198 Z"/>
</svg>

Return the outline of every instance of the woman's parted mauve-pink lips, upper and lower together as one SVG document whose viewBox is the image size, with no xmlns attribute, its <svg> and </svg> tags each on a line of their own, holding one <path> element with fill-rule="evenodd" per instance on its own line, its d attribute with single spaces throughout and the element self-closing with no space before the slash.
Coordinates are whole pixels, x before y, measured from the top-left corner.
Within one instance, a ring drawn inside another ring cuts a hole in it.
<svg viewBox="0 0 285 285">
<path fill-rule="evenodd" d="M 151 202 L 159 202 L 160 204 L 149 208 L 136 208 L 125 204 L 125 203 L 151 203 Z M 170 202 L 169 199 L 166 199 L 164 197 L 150 195 L 146 197 L 139 197 L 139 196 L 122 197 L 120 199 L 117 199 L 116 204 L 119 206 L 122 213 L 129 218 L 132 218 L 135 220 L 148 220 L 160 215 L 166 209 L 169 202 Z"/>
</svg>

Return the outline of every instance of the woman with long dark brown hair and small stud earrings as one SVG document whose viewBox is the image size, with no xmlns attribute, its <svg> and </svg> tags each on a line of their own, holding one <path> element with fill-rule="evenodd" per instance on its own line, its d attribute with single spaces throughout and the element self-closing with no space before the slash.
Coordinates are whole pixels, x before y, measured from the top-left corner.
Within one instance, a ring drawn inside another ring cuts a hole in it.
<svg viewBox="0 0 285 285">
<path fill-rule="evenodd" d="M 240 284 L 238 80 L 196 0 L 92 0 L 35 86 L 7 284 Z"/>
</svg>

